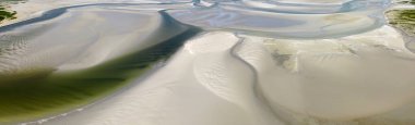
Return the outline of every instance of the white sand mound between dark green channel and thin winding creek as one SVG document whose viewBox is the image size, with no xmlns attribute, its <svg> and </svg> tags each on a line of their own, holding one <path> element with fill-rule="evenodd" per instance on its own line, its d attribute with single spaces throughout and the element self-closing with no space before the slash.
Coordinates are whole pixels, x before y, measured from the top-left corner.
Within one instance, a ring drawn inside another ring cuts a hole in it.
<svg viewBox="0 0 415 125">
<path fill-rule="evenodd" d="M 230 33 L 210 33 L 190 40 L 165 67 L 139 85 L 103 103 L 47 124 L 278 123 L 271 110 L 264 109 L 254 97 L 250 68 L 230 54 L 237 41 L 238 38 Z"/>
</svg>

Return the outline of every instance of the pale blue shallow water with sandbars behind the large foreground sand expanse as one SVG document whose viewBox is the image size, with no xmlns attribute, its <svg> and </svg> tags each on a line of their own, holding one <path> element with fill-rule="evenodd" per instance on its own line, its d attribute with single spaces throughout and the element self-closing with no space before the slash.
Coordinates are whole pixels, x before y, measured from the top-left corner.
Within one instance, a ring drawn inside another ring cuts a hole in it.
<svg viewBox="0 0 415 125">
<path fill-rule="evenodd" d="M 333 4 L 248 0 L 167 12 L 180 22 L 208 29 L 274 38 L 335 38 L 379 28 L 384 24 L 383 11 L 389 4 L 389 0 Z"/>
</svg>

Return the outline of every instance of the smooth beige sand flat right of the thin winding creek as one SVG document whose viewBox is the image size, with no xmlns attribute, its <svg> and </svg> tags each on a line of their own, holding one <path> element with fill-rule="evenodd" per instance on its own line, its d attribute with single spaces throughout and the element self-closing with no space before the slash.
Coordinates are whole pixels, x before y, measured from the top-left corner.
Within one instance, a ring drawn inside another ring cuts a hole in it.
<svg viewBox="0 0 415 125">
<path fill-rule="evenodd" d="M 259 49 L 264 39 L 247 41 L 246 49 L 257 52 L 241 50 L 242 57 L 248 54 L 274 107 L 344 121 L 391 111 L 415 97 L 415 54 L 391 27 L 341 39 L 269 39 L 269 51 Z"/>
</svg>

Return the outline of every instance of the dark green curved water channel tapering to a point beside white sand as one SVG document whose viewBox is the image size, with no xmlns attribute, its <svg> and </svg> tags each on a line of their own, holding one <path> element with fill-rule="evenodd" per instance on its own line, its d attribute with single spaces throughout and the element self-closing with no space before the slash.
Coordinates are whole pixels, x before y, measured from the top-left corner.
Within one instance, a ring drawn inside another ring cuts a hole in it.
<svg viewBox="0 0 415 125">
<path fill-rule="evenodd" d="M 168 59 L 186 39 L 199 33 L 191 28 L 169 40 L 95 67 L 10 80 L 0 85 L 0 124 L 36 121 L 79 109 L 108 97 Z"/>
</svg>

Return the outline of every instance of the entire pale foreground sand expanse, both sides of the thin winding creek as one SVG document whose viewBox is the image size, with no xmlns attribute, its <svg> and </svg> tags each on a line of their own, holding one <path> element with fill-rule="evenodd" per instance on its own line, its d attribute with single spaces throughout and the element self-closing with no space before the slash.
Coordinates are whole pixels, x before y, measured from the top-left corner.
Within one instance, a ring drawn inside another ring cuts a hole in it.
<svg viewBox="0 0 415 125">
<path fill-rule="evenodd" d="M 321 40 L 206 33 L 142 84 L 46 124 L 412 124 L 415 55 L 396 39 L 389 26 Z"/>
</svg>

